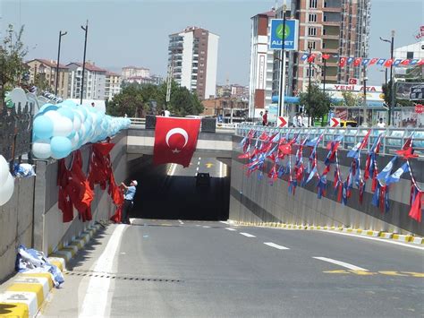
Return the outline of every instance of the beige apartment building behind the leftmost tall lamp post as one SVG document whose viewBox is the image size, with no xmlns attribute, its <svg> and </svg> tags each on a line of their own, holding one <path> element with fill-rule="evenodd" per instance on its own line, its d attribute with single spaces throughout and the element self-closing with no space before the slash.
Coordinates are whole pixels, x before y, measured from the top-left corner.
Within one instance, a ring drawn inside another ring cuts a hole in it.
<svg viewBox="0 0 424 318">
<path fill-rule="evenodd" d="M 37 83 L 38 79 L 46 81 L 50 86 L 50 92 L 55 92 L 56 65 L 53 60 L 36 58 L 27 62 L 30 67 L 30 82 Z M 59 64 L 59 79 L 57 84 L 57 95 L 62 99 L 68 98 L 69 68 Z"/>
</svg>

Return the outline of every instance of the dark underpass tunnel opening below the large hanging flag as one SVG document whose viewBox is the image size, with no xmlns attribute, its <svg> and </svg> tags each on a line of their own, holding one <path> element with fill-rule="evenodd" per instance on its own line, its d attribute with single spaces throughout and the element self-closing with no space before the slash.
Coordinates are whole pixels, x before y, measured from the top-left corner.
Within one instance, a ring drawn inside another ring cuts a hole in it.
<svg viewBox="0 0 424 318">
<path fill-rule="evenodd" d="M 224 162 L 229 159 L 193 157 L 190 167 L 182 168 L 154 166 L 151 156 L 145 157 L 143 167 L 130 176 L 139 182 L 131 218 L 228 219 L 231 171 Z"/>
</svg>

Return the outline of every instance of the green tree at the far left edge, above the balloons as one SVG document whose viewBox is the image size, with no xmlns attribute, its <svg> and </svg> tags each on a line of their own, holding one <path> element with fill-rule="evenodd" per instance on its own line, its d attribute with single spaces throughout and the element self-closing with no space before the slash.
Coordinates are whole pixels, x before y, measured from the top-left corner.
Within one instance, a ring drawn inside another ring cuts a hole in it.
<svg viewBox="0 0 424 318">
<path fill-rule="evenodd" d="M 24 46 L 21 38 L 23 26 L 19 32 L 13 30 L 9 24 L 6 36 L 0 46 L 0 104 L 4 103 L 6 90 L 12 90 L 21 84 L 21 78 L 28 71 L 28 66 L 23 63 L 28 49 Z"/>
</svg>

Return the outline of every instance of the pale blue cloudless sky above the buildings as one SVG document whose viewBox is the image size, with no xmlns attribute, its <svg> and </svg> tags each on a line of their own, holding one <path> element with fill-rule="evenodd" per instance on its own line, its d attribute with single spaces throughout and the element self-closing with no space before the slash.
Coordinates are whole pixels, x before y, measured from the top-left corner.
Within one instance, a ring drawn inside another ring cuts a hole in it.
<svg viewBox="0 0 424 318">
<path fill-rule="evenodd" d="M 279 0 L 281 5 L 283 0 Z M 250 73 L 250 17 L 267 12 L 275 0 L 0 0 L 0 30 L 9 23 L 25 26 L 24 42 L 31 58 L 57 58 L 59 30 L 61 62 L 82 61 L 84 32 L 89 20 L 87 60 L 119 71 L 126 65 L 144 66 L 165 75 L 168 35 L 198 26 L 219 39 L 217 82 L 247 85 Z M 424 0 L 372 0 L 370 55 L 388 57 L 388 39 L 395 30 L 394 47 L 415 42 L 424 25 Z M 369 68 L 369 83 L 384 82 L 381 68 Z"/>
</svg>

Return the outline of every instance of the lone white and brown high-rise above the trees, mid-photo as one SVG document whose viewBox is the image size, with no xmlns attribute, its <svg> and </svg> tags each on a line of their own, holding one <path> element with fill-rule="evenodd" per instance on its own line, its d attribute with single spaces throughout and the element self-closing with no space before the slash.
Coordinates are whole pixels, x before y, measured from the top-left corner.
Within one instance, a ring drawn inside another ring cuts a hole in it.
<svg viewBox="0 0 424 318">
<path fill-rule="evenodd" d="M 216 96 L 216 66 L 219 37 L 197 27 L 188 27 L 169 36 L 168 64 L 173 78 L 199 99 Z"/>
</svg>

